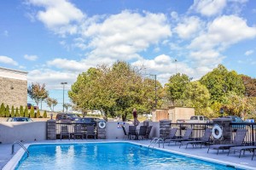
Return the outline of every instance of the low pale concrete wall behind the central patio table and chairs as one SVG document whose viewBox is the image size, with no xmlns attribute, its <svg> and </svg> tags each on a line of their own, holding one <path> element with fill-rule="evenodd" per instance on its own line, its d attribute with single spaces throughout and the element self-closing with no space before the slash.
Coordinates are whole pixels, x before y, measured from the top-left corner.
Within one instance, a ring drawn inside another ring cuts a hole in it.
<svg viewBox="0 0 256 170">
<path fill-rule="evenodd" d="M 143 122 L 137 126 L 137 129 L 143 125 Z M 131 122 L 125 122 L 125 130 L 128 133 L 129 126 L 133 126 Z M 148 126 L 153 126 L 150 137 L 159 137 L 160 136 L 160 122 L 149 122 Z M 124 131 L 122 128 L 118 128 L 118 122 L 107 122 L 106 125 L 106 138 L 107 139 L 123 139 L 124 138 Z"/>
</svg>

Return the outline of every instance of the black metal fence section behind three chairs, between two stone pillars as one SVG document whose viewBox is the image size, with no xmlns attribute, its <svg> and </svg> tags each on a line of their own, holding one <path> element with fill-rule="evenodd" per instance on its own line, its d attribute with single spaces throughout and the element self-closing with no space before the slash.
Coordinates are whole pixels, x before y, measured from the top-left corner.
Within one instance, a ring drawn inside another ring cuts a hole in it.
<svg viewBox="0 0 256 170">
<path fill-rule="evenodd" d="M 80 132 L 84 134 L 84 138 L 86 137 L 88 126 L 94 126 L 95 132 L 97 133 L 95 123 L 56 122 L 56 139 L 61 139 L 61 133 L 63 133 L 61 132 L 61 127 L 62 129 L 63 127 L 67 127 L 67 133 L 70 134 L 70 138 L 75 139 L 73 134 L 76 132 L 78 126 L 81 126 Z M 64 136 L 64 138 L 67 138 L 67 136 Z"/>
</svg>

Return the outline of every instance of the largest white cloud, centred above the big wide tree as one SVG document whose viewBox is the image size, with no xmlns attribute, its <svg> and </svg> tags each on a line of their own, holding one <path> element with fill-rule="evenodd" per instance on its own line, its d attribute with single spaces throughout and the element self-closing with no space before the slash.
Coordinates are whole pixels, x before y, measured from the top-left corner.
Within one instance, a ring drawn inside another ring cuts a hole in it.
<svg viewBox="0 0 256 170">
<path fill-rule="evenodd" d="M 90 57 L 136 59 L 139 52 L 151 44 L 172 36 L 164 14 L 137 14 L 123 11 L 113 14 L 102 23 L 95 23 L 84 31 L 90 37 Z"/>
</svg>

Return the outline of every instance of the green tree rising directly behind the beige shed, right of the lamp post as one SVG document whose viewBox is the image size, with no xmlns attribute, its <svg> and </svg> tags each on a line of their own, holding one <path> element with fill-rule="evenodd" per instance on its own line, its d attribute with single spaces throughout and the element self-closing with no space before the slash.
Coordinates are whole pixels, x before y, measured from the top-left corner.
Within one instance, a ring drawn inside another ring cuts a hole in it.
<svg viewBox="0 0 256 170">
<path fill-rule="evenodd" d="M 171 99 L 172 105 L 175 105 L 175 100 L 181 99 L 186 85 L 189 83 L 189 77 L 185 74 L 177 73 L 170 77 L 166 83 L 167 98 Z"/>
</svg>

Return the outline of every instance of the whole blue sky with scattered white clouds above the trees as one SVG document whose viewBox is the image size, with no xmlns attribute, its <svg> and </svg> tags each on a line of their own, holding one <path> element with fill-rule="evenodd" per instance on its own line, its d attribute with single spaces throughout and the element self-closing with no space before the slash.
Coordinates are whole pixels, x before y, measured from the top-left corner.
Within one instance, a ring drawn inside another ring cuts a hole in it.
<svg viewBox="0 0 256 170">
<path fill-rule="evenodd" d="M 218 64 L 255 78 L 256 1 L 1 1 L 0 66 L 27 71 L 28 85 L 45 83 L 57 111 L 61 82 L 69 102 L 79 73 L 117 60 L 163 85 L 177 72 L 200 79 Z"/>
</svg>

